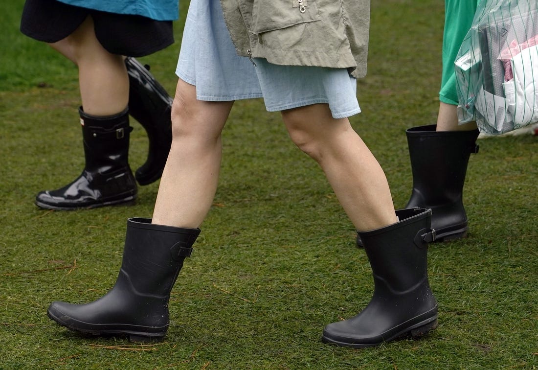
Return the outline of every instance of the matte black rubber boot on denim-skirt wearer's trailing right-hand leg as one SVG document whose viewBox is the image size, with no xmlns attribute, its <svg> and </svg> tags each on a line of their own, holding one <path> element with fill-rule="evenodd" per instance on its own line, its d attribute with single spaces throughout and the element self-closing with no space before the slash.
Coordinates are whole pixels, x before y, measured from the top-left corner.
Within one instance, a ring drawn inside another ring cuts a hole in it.
<svg viewBox="0 0 538 370">
<path fill-rule="evenodd" d="M 357 316 L 325 326 L 322 340 L 339 346 L 377 346 L 400 337 L 419 338 L 437 327 L 437 302 L 428 283 L 431 210 L 397 211 L 396 224 L 360 237 L 372 267 L 374 292 Z"/>
</svg>

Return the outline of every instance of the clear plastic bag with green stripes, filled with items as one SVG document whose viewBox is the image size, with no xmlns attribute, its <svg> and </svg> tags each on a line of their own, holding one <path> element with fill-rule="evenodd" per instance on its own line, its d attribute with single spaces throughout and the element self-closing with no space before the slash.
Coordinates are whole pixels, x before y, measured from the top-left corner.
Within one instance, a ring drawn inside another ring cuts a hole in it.
<svg viewBox="0 0 538 370">
<path fill-rule="evenodd" d="M 503 134 L 538 122 L 538 1 L 482 0 L 455 68 L 459 123 Z"/>
</svg>

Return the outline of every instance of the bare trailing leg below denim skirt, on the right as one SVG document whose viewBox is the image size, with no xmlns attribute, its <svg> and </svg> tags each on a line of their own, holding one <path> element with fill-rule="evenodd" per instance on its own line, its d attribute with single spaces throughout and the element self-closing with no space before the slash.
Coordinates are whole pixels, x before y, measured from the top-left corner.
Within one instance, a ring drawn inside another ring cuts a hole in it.
<svg viewBox="0 0 538 370">
<path fill-rule="evenodd" d="M 359 231 L 397 221 L 385 173 L 347 118 L 327 104 L 282 111 L 289 135 L 320 164 L 336 197 Z"/>
</svg>

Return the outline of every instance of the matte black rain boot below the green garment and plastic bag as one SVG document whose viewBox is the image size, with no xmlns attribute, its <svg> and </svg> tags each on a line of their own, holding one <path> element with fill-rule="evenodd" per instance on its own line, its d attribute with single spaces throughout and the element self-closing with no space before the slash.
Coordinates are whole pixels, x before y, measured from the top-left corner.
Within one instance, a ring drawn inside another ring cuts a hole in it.
<svg viewBox="0 0 538 370">
<path fill-rule="evenodd" d="M 478 130 L 435 131 L 436 125 L 406 130 L 413 191 L 406 208 L 431 208 L 436 241 L 462 239 L 469 227 L 463 185 Z"/>
</svg>

